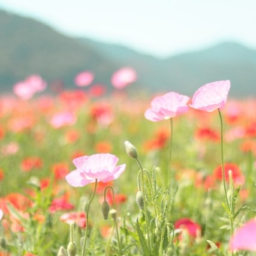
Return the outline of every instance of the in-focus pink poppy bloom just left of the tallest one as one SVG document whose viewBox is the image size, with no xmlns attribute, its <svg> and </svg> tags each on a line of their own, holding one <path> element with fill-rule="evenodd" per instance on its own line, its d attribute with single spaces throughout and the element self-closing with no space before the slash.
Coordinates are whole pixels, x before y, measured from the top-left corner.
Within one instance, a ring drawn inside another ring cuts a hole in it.
<svg viewBox="0 0 256 256">
<path fill-rule="evenodd" d="M 188 100 L 188 96 L 168 92 L 163 96 L 155 97 L 151 101 L 151 108 L 146 110 L 144 116 L 153 122 L 174 118 L 188 111 Z"/>
</svg>

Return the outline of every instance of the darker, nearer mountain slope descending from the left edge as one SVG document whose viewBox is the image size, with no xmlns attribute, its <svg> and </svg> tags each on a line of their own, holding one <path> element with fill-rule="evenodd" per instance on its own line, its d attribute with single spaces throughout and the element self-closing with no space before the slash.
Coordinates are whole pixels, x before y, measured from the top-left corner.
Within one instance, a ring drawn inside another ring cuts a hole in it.
<svg viewBox="0 0 256 256">
<path fill-rule="evenodd" d="M 1 90 L 10 90 L 13 83 L 34 73 L 47 81 L 61 79 L 68 87 L 74 86 L 77 73 L 92 70 L 95 82 L 104 82 L 119 67 L 74 38 L 5 11 L 0 11 L 0 38 Z"/>
</svg>

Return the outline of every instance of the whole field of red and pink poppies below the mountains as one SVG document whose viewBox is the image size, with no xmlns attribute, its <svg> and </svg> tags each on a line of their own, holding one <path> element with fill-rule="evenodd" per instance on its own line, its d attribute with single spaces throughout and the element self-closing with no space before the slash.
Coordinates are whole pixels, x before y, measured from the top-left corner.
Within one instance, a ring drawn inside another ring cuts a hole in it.
<svg viewBox="0 0 256 256">
<path fill-rule="evenodd" d="M 120 72 L 0 97 L 0 255 L 254 255 L 256 100 L 138 96 Z"/>
</svg>

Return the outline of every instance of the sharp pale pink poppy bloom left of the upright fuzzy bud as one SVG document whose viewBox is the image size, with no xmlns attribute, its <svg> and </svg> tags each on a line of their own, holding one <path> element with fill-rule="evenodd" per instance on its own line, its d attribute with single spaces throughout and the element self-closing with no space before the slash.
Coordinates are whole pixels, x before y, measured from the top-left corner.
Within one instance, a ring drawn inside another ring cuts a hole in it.
<svg viewBox="0 0 256 256">
<path fill-rule="evenodd" d="M 125 170 L 125 164 L 116 166 L 118 158 L 110 153 L 81 156 L 73 160 L 77 170 L 71 171 L 66 180 L 71 186 L 85 186 L 95 182 L 109 182 L 117 179 Z"/>
</svg>

